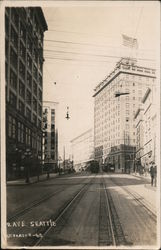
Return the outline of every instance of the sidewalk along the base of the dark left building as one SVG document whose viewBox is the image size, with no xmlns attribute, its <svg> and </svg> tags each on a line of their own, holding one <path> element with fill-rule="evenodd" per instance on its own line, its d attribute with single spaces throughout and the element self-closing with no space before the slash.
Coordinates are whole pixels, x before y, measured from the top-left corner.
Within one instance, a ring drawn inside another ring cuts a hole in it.
<svg viewBox="0 0 161 250">
<path fill-rule="evenodd" d="M 30 185 L 30 184 L 33 184 L 33 183 L 36 183 L 36 182 L 50 180 L 50 179 L 56 178 L 58 176 L 59 176 L 59 173 L 50 173 L 50 178 L 47 179 L 47 174 L 45 173 L 45 174 L 42 174 L 42 175 L 39 176 L 39 181 L 37 179 L 37 176 L 32 176 L 32 177 L 30 177 L 30 183 L 26 183 L 25 179 L 17 179 L 17 180 L 7 181 L 7 185 L 8 186 L 12 186 L 12 185 Z"/>
</svg>

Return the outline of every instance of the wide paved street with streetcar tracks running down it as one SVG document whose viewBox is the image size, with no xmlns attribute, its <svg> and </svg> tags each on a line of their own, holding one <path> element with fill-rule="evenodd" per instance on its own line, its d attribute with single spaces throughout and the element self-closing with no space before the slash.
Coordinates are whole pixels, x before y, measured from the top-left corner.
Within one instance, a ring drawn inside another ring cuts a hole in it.
<svg viewBox="0 0 161 250">
<path fill-rule="evenodd" d="M 156 245 L 156 188 L 126 174 L 79 174 L 7 187 L 9 246 Z"/>
</svg>

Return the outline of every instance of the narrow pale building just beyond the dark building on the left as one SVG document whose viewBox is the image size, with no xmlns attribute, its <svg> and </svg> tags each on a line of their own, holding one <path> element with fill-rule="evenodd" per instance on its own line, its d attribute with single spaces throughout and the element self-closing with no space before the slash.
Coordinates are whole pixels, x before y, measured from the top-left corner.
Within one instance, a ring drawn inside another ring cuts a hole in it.
<svg viewBox="0 0 161 250">
<path fill-rule="evenodd" d="M 43 105 L 43 164 L 51 171 L 58 168 L 58 129 L 57 103 L 45 102 Z"/>
</svg>

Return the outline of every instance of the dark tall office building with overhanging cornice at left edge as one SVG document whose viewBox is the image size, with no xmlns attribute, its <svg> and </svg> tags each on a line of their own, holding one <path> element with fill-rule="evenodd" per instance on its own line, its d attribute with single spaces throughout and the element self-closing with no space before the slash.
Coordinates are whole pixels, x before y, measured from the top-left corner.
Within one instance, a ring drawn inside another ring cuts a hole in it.
<svg viewBox="0 0 161 250">
<path fill-rule="evenodd" d="M 6 170 L 22 176 L 30 151 L 41 157 L 43 39 L 47 30 L 40 7 L 5 10 Z M 34 172 L 34 170 L 33 170 Z M 31 171 L 32 174 L 32 171 Z"/>
</svg>

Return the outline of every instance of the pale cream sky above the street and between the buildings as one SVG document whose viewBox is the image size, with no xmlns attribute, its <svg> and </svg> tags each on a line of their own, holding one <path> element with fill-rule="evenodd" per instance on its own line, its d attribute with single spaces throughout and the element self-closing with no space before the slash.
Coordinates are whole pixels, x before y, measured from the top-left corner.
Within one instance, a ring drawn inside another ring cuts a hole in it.
<svg viewBox="0 0 161 250">
<path fill-rule="evenodd" d="M 121 56 L 156 67 L 159 46 L 157 2 L 117 2 L 44 7 L 44 101 L 58 102 L 59 155 L 70 141 L 93 127 L 94 88 Z M 122 45 L 122 34 L 137 38 L 138 49 Z M 56 82 L 56 84 L 55 84 Z M 70 119 L 65 119 L 69 107 Z"/>
</svg>

